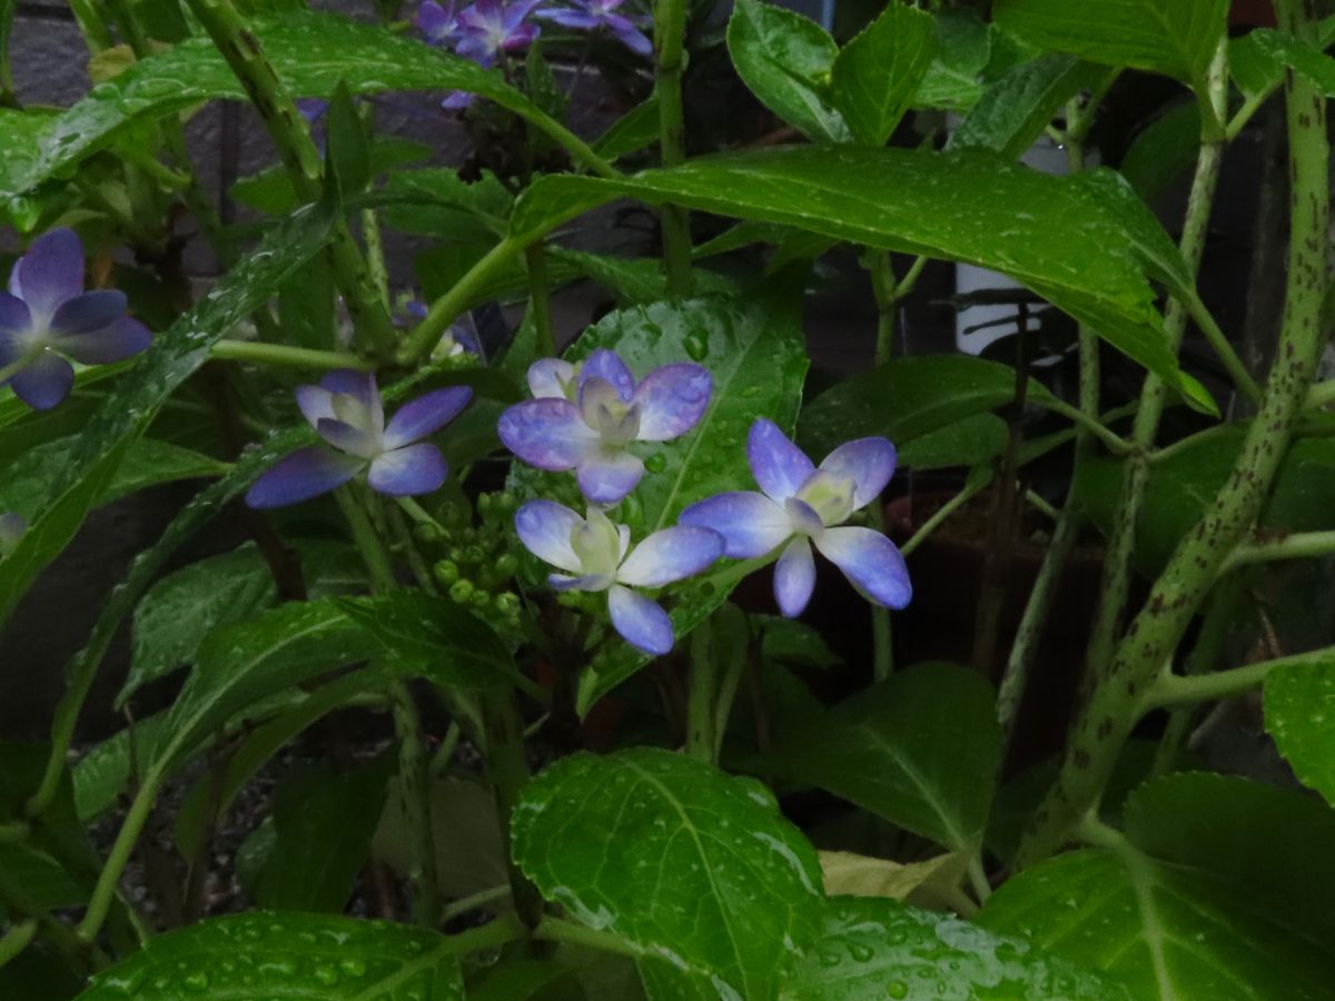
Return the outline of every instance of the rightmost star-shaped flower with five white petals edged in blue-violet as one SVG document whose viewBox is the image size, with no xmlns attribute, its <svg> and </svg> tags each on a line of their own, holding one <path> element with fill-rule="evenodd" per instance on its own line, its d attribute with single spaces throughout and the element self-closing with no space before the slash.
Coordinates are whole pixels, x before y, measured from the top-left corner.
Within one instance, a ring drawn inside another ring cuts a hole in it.
<svg viewBox="0 0 1335 1001">
<path fill-rule="evenodd" d="M 801 615 L 812 598 L 813 545 L 870 601 L 890 609 L 909 603 L 913 589 L 896 545 L 878 531 L 842 525 L 890 482 L 893 444 L 860 438 L 832 451 L 817 468 L 762 418 L 752 424 L 746 458 L 762 494 L 720 494 L 692 505 L 680 521 L 717 531 L 728 557 L 750 559 L 784 546 L 774 567 L 774 599 L 784 615 Z"/>
</svg>

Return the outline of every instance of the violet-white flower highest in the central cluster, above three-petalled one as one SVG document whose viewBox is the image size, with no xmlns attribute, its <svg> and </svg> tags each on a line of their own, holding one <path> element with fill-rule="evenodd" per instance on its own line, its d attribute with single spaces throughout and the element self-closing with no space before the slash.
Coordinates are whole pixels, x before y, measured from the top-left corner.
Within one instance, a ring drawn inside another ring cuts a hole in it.
<svg viewBox="0 0 1335 1001">
<path fill-rule="evenodd" d="M 506 448 L 530 466 L 575 471 L 579 490 L 614 505 L 645 475 L 631 442 L 668 442 L 693 428 L 709 406 L 709 371 L 692 362 L 654 368 L 638 384 L 614 351 L 599 348 L 577 370 L 546 358 L 529 368 L 537 399 L 501 415 Z"/>
</svg>

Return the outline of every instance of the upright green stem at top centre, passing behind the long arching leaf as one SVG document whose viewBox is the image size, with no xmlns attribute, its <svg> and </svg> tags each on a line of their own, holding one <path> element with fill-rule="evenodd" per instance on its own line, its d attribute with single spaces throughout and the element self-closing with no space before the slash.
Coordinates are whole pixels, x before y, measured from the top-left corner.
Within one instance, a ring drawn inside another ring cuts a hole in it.
<svg viewBox="0 0 1335 1001">
<path fill-rule="evenodd" d="M 686 159 L 686 120 L 681 80 L 686 51 L 686 0 L 654 3 L 654 76 L 658 92 L 658 145 L 663 167 Z M 681 206 L 659 211 L 668 295 L 690 295 L 690 218 Z"/>
</svg>

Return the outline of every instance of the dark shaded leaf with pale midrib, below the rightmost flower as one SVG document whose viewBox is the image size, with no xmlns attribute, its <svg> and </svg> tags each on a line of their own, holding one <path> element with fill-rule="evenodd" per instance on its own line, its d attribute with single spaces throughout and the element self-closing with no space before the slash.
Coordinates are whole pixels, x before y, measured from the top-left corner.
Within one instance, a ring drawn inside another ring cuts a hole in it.
<svg viewBox="0 0 1335 1001">
<path fill-rule="evenodd" d="M 818 786 L 953 850 L 983 844 L 1000 765 L 992 687 L 928 663 L 812 719 L 760 767 Z"/>
</svg>

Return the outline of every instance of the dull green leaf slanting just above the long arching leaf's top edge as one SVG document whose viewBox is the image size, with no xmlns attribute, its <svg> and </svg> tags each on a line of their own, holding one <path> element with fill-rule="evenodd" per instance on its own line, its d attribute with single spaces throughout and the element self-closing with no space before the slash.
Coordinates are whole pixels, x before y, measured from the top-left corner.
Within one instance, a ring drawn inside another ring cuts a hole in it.
<svg viewBox="0 0 1335 1001">
<path fill-rule="evenodd" d="M 951 133 L 947 148 L 995 149 L 1008 160 L 1019 159 L 1068 100 L 1093 88 L 1107 72 L 1093 63 L 1059 55 L 1021 63 L 983 92 Z"/>
</svg>

